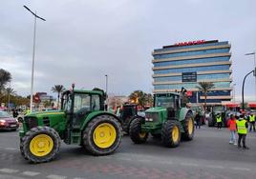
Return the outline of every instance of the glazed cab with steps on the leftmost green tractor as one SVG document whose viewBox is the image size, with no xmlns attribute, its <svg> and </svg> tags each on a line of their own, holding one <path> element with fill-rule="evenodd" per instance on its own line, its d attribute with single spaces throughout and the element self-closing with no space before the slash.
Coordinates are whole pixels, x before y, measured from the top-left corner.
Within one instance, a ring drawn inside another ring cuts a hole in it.
<svg viewBox="0 0 256 179">
<path fill-rule="evenodd" d="M 92 112 L 104 110 L 103 91 L 100 90 L 66 90 L 61 97 L 61 110 L 66 114 L 67 128 L 65 142 L 77 143 L 79 137 L 75 133 L 81 132 L 84 119 Z"/>
</svg>

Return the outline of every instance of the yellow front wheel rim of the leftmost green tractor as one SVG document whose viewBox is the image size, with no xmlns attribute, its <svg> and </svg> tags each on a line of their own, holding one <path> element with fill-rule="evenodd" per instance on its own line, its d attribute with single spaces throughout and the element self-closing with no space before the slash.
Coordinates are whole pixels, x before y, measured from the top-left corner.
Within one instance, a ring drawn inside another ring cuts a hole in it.
<svg viewBox="0 0 256 179">
<path fill-rule="evenodd" d="M 30 149 L 34 156 L 46 156 L 53 150 L 53 139 L 47 134 L 36 135 L 32 138 Z"/>
</svg>

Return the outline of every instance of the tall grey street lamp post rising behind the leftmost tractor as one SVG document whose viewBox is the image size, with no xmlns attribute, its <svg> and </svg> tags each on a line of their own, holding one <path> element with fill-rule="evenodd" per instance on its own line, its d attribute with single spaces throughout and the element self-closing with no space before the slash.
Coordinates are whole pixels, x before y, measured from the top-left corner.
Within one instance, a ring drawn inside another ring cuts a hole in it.
<svg viewBox="0 0 256 179">
<path fill-rule="evenodd" d="M 30 109 L 32 111 L 32 93 L 33 93 L 33 70 L 34 70 L 34 50 L 35 50 L 35 31 L 36 31 L 36 19 L 41 19 L 42 21 L 46 21 L 44 18 L 36 15 L 36 11 L 32 12 L 28 7 L 23 6 L 26 10 L 29 10 L 34 16 L 34 26 L 33 26 L 33 46 L 32 46 L 32 87 L 31 87 L 31 105 Z"/>
</svg>

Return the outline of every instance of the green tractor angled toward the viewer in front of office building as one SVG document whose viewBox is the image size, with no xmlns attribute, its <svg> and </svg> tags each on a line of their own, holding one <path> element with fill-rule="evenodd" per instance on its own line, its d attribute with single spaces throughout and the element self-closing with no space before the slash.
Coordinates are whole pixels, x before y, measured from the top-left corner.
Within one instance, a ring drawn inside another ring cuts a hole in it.
<svg viewBox="0 0 256 179">
<path fill-rule="evenodd" d="M 145 111 L 144 118 L 133 120 L 130 137 L 135 144 L 146 142 L 149 133 L 168 148 L 178 147 L 181 138 L 193 139 L 193 112 L 182 104 L 182 93 L 155 94 L 154 107 Z"/>
</svg>

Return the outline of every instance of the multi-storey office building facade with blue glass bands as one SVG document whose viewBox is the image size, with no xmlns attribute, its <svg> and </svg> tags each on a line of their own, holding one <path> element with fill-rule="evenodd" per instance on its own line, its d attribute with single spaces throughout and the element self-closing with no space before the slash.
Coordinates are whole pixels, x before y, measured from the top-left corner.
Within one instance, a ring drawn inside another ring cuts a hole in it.
<svg viewBox="0 0 256 179">
<path fill-rule="evenodd" d="M 210 50 L 207 50 L 208 47 Z M 222 46 L 222 47 L 220 47 Z M 203 47 L 206 49 L 204 50 Z M 203 103 L 201 91 L 197 91 L 198 82 L 222 80 L 222 82 L 214 82 L 214 89 L 208 92 L 208 96 L 215 96 L 214 99 L 207 99 L 207 103 L 222 103 L 222 101 L 230 101 L 230 83 L 231 83 L 231 61 L 230 61 L 230 45 L 227 41 L 219 42 L 204 41 L 203 44 L 189 46 L 168 46 L 153 51 L 154 65 L 154 93 L 164 91 L 180 91 L 181 88 L 192 90 L 190 97 L 191 103 Z M 198 48 L 201 48 L 198 50 Z M 195 50 L 194 50 L 195 49 Z M 173 50 L 173 51 L 172 51 Z M 177 52 L 176 50 L 180 50 Z M 214 55 L 214 57 L 200 57 L 198 55 Z M 186 59 L 179 59 L 186 57 Z M 164 60 L 164 61 L 162 61 Z M 218 64 L 227 62 L 226 64 Z M 211 63 L 208 65 L 207 63 Z M 215 64 L 216 63 L 216 64 Z M 186 65 L 185 68 L 179 67 Z M 191 66 L 190 66 L 191 65 Z M 178 67 L 177 67 L 178 66 Z M 193 67 L 194 66 L 194 67 Z M 198 66 L 198 67 L 195 67 Z M 164 68 L 164 69 L 158 69 Z M 182 72 L 197 72 L 197 82 L 182 82 Z M 199 74 L 200 72 L 200 74 Z M 205 72 L 206 74 L 203 74 Z M 174 74 L 175 73 L 175 74 Z M 201 74 L 202 73 L 202 74 Z M 165 75 L 165 76 L 161 76 Z M 170 84 L 160 84 L 161 82 Z M 159 83 L 159 84 L 158 84 Z"/>
</svg>

